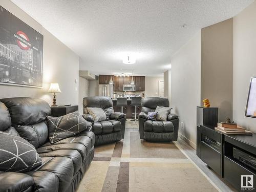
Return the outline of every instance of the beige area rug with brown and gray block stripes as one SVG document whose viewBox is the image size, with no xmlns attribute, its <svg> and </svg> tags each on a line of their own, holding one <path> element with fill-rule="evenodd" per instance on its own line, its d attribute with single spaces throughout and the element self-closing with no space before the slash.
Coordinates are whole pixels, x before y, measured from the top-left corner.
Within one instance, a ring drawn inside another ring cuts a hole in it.
<svg viewBox="0 0 256 192">
<path fill-rule="evenodd" d="M 126 125 L 123 141 L 95 148 L 78 192 L 218 191 L 174 143 L 140 140 L 138 122 Z"/>
</svg>

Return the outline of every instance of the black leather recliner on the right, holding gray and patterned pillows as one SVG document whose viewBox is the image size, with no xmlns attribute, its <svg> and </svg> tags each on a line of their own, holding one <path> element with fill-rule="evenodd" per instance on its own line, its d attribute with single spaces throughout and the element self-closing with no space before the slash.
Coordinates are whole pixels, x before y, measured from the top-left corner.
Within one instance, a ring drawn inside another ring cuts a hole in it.
<svg viewBox="0 0 256 192">
<path fill-rule="evenodd" d="M 148 112 L 154 112 L 157 106 L 169 106 L 169 100 L 161 97 L 144 98 L 141 113 L 139 114 L 140 139 L 156 142 L 177 141 L 179 117 L 168 114 L 167 121 L 153 121 L 147 119 Z"/>
</svg>

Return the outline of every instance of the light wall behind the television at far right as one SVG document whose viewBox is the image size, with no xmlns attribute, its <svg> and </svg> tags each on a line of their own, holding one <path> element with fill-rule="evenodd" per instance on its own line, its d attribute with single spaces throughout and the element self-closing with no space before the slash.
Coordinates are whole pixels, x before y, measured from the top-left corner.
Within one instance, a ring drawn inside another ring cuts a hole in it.
<svg viewBox="0 0 256 192">
<path fill-rule="evenodd" d="M 233 17 L 233 119 L 256 133 L 256 119 L 245 117 L 250 78 L 256 76 L 256 2 Z"/>
</svg>

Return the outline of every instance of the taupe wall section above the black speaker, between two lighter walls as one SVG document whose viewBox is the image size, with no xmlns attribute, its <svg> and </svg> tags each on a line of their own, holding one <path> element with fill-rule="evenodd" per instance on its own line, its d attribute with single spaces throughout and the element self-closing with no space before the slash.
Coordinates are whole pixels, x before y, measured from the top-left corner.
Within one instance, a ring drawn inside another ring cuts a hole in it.
<svg viewBox="0 0 256 192">
<path fill-rule="evenodd" d="M 233 19 L 201 30 L 201 104 L 219 108 L 219 121 L 232 119 Z"/>
</svg>

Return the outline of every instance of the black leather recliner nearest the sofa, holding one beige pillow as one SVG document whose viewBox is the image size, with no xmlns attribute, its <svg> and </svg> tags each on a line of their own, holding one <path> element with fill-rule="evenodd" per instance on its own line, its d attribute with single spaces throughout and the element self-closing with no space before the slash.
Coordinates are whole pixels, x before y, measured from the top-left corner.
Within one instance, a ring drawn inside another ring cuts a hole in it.
<svg viewBox="0 0 256 192">
<path fill-rule="evenodd" d="M 86 108 L 101 108 L 106 114 L 106 120 L 94 122 Z M 113 143 L 124 138 L 125 114 L 114 112 L 112 99 L 109 97 L 85 97 L 83 98 L 83 117 L 93 123 L 95 134 L 95 146 Z"/>
</svg>

